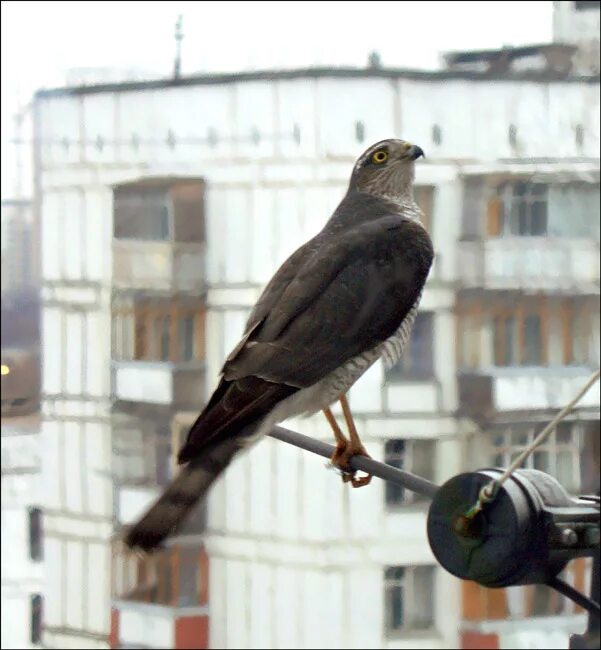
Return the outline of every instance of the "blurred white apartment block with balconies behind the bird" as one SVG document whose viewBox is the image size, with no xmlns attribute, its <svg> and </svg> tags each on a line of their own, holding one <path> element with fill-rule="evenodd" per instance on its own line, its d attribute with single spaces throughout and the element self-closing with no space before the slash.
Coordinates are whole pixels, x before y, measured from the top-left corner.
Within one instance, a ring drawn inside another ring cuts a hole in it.
<svg viewBox="0 0 601 650">
<path fill-rule="evenodd" d="M 2 523 L 23 549 L 3 550 L 3 647 L 567 647 L 571 602 L 460 583 L 435 565 L 427 503 L 351 491 L 271 439 L 164 552 L 113 541 L 172 475 L 264 283 L 379 139 L 426 151 L 436 260 L 405 357 L 351 391 L 370 454 L 438 482 L 506 466 L 599 366 L 599 4 L 554 4 L 554 43 L 437 72 L 101 70 L 36 95 L 41 451 L 35 416 L 7 426 L 3 375 Z M 3 334 L 16 367 L 4 355 Z M 599 405 L 597 384 L 531 466 L 597 489 Z M 324 425 L 289 423 L 329 440 Z"/>
</svg>

